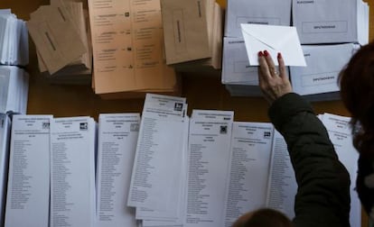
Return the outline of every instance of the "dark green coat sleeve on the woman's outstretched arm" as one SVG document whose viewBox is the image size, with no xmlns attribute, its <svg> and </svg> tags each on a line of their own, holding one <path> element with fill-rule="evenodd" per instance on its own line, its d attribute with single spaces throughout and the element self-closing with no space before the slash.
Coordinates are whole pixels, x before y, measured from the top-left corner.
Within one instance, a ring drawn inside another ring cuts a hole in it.
<svg viewBox="0 0 374 227">
<path fill-rule="evenodd" d="M 272 104 L 269 117 L 285 137 L 295 169 L 295 226 L 350 226 L 350 177 L 312 106 L 290 93 Z"/>
</svg>

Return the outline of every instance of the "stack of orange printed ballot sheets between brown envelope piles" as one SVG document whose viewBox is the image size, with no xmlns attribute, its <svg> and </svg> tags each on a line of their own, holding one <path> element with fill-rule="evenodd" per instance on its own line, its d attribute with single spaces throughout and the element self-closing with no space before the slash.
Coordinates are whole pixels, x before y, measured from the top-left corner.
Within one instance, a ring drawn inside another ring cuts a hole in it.
<svg viewBox="0 0 374 227">
<path fill-rule="evenodd" d="M 89 21 L 96 94 L 179 94 L 180 81 L 164 59 L 160 0 L 89 0 Z"/>
</svg>

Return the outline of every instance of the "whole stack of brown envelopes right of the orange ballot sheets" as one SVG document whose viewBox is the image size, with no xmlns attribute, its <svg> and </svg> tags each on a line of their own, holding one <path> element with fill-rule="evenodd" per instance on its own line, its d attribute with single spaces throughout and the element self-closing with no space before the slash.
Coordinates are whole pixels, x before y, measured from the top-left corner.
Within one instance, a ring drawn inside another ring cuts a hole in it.
<svg viewBox="0 0 374 227">
<path fill-rule="evenodd" d="M 223 11 L 215 0 L 161 0 L 166 63 L 178 71 L 221 68 Z"/>
</svg>

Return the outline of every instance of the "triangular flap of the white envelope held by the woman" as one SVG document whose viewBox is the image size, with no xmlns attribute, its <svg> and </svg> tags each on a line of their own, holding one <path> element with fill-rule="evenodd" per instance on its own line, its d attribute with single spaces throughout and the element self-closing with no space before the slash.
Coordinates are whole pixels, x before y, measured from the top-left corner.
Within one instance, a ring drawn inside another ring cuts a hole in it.
<svg viewBox="0 0 374 227">
<path fill-rule="evenodd" d="M 242 23 L 241 28 L 243 32 L 274 50 L 280 50 L 283 44 L 294 35 L 294 28 L 288 26 Z"/>
</svg>

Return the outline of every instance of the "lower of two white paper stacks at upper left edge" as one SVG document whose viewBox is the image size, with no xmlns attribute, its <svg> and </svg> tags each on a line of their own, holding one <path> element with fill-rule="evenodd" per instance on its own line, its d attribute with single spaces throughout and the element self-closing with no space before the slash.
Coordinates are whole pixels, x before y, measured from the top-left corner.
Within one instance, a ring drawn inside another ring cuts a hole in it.
<svg viewBox="0 0 374 227">
<path fill-rule="evenodd" d="M 0 113 L 26 114 L 29 75 L 22 68 L 0 66 Z"/>
</svg>

